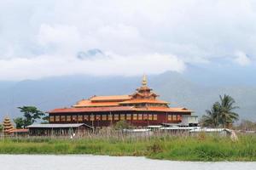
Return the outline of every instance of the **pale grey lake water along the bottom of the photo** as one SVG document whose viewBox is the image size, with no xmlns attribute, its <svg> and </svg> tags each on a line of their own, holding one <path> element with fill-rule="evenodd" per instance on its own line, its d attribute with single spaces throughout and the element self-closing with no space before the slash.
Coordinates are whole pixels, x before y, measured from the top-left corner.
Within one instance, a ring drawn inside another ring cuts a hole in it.
<svg viewBox="0 0 256 170">
<path fill-rule="evenodd" d="M 255 170 L 256 162 L 160 161 L 129 156 L 0 155 L 1 170 Z"/>
</svg>

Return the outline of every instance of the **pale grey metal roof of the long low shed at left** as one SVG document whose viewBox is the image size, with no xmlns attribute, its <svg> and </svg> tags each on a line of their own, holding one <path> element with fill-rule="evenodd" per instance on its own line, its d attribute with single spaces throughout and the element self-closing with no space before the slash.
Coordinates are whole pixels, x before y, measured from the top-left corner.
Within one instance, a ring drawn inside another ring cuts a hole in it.
<svg viewBox="0 0 256 170">
<path fill-rule="evenodd" d="M 68 128 L 68 127 L 81 127 L 87 126 L 84 123 L 67 123 L 67 124 L 32 124 L 27 126 L 27 128 Z"/>
</svg>

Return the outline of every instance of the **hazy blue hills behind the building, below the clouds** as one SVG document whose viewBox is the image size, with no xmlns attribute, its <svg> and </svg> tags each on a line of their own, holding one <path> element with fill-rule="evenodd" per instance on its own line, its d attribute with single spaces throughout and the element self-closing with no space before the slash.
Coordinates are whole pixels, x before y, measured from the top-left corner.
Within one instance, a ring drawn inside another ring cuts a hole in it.
<svg viewBox="0 0 256 170">
<path fill-rule="evenodd" d="M 22 82 L 0 82 L 0 116 L 20 116 L 16 109 L 36 105 L 43 111 L 73 105 L 92 95 L 132 94 L 141 85 L 142 77 L 51 77 Z M 256 87 L 209 86 L 175 72 L 148 77 L 148 86 L 171 106 L 185 106 L 202 115 L 218 100 L 219 94 L 236 99 L 241 118 L 256 120 Z"/>
</svg>

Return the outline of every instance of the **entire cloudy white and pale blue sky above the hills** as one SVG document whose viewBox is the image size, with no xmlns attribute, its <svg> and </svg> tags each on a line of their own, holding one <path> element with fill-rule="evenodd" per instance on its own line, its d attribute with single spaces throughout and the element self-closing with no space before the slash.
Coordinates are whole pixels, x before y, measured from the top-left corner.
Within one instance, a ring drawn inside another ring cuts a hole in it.
<svg viewBox="0 0 256 170">
<path fill-rule="evenodd" d="M 0 0 L 0 80 L 256 71 L 253 0 Z M 246 74 L 246 73 L 245 73 Z"/>
</svg>

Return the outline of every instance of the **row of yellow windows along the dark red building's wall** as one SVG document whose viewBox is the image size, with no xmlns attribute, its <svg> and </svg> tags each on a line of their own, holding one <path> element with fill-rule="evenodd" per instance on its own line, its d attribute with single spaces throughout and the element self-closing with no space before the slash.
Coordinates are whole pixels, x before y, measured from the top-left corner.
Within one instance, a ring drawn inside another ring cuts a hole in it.
<svg viewBox="0 0 256 170">
<path fill-rule="evenodd" d="M 157 114 L 109 114 L 79 116 L 49 116 L 49 122 L 84 122 L 84 121 L 157 121 Z M 180 121 L 179 115 L 168 115 L 168 121 Z"/>
</svg>

